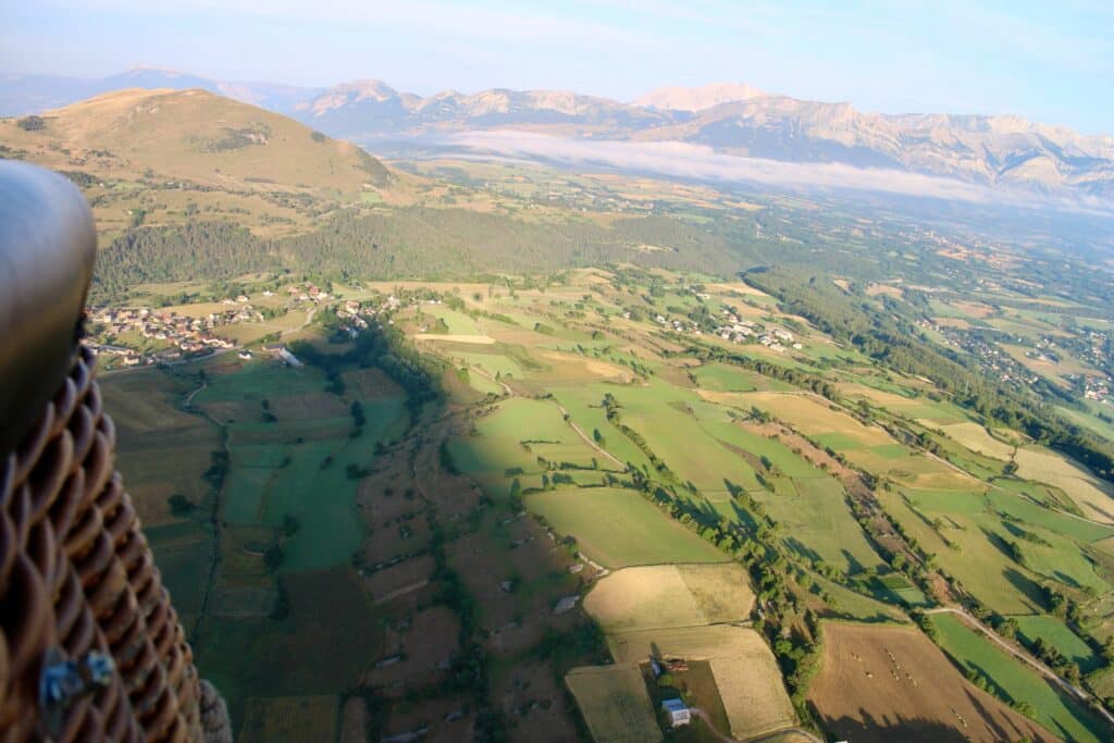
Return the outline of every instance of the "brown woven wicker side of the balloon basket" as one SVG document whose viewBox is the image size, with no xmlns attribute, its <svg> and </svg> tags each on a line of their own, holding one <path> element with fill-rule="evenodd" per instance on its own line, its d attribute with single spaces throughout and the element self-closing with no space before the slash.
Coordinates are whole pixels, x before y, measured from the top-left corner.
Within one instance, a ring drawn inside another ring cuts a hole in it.
<svg viewBox="0 0 1114 743">
<path fill-rule="evenodd" d="M 116 666 L 59 711 L 55 740 L 204 740 L 193 655 L 114 471 L 115 442 L 81 349 L 0 473 L 0 741 L 47 737 L 50 648 Z"/>
</svg>

